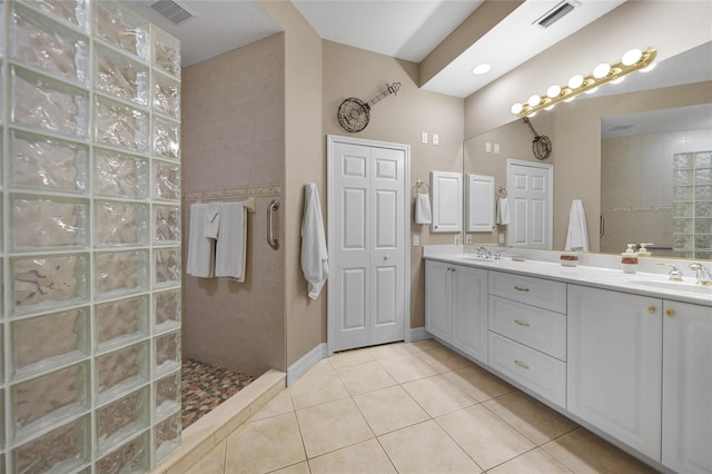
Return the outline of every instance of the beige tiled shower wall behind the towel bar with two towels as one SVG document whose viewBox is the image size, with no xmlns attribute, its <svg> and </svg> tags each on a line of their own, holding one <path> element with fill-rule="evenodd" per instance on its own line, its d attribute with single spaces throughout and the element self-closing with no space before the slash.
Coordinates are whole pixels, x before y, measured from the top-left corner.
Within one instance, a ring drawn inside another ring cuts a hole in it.
<svg viewBox="0 0 712 474">
<path fill-rule="evenodd" d="M 184 275 L 184 354 L 251 375 L 285 368 L 285 253 L 265 239 L 284 181 L 284 45 L 276 34 L 182 75 L 184 263 L 190 203 L 212 191 L 257 201 L 245 283 Z"/>
</svg>

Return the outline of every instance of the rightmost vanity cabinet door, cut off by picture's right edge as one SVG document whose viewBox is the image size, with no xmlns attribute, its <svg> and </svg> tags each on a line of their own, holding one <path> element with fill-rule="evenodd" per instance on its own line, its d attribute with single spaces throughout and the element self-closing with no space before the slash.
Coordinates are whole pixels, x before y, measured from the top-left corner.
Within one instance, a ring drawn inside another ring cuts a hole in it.
<svg viewBox="0 0 712 474">
<path fill-rule="evenodd" d="M 712 309 L 665 302 L 663 461 L 680 473 L 712 473 Z"/>
</svg>

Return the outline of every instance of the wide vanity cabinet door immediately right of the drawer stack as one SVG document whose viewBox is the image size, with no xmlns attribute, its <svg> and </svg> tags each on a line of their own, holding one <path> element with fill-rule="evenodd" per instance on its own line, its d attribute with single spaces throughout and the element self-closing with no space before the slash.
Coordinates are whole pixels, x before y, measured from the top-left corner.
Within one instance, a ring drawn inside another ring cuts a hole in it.
<svg viewBox="0 0 712 474">
<path fill-rule="evenodd" d="M 566 408 L 660 462 L 662 302 L 568 285 Z"/>
</svg>

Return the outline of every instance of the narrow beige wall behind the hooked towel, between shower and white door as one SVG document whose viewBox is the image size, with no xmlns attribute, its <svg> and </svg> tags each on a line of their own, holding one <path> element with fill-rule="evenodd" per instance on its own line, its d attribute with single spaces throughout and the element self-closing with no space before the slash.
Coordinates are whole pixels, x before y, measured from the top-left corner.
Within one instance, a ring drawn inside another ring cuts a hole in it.
<svg viewBox="0 0 712 474">
<path fill-rule="evenodd" d="M 285 30 L 285 198 L 280 231 L 285 259 L 285 307 L 289 367 L 326 342 L 326 292 L 307 296 L 301 276 L 304 185 L 315 182 L 326 197 L 326 162 L 322 131 L 322 39 L 290 2 L 261 1 Z M 325 210 L 326 211 L 326 210 Z"/>
</svg>

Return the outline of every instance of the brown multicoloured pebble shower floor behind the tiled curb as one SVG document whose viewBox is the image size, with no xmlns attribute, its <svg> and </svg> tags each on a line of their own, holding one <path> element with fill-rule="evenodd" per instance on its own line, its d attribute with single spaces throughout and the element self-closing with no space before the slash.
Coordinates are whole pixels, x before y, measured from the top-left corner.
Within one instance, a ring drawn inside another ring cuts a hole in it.
<svg viewBox="0 0 712 474">
<path fill-rule="evenodd" d="M 204 362 L 186 358 L 181 373 L 182 427 L 201 416 L 257 379 Z"/>
</svg>

